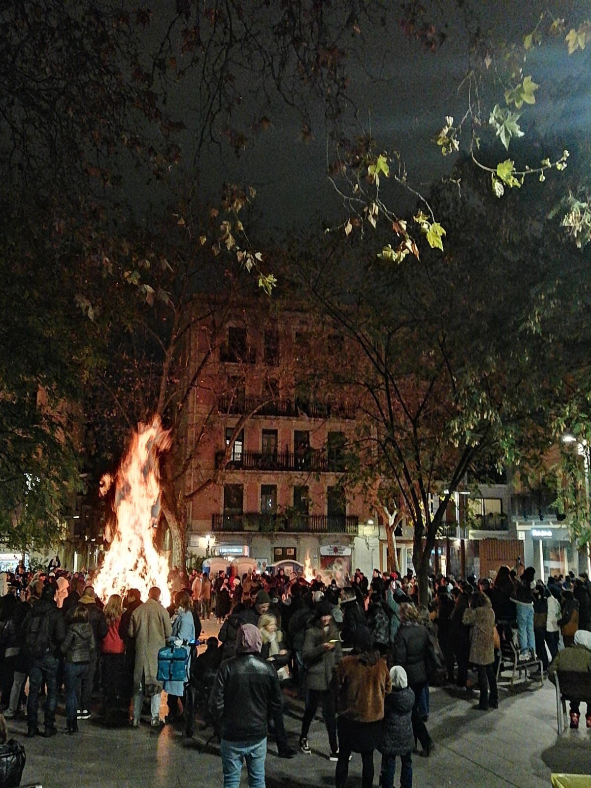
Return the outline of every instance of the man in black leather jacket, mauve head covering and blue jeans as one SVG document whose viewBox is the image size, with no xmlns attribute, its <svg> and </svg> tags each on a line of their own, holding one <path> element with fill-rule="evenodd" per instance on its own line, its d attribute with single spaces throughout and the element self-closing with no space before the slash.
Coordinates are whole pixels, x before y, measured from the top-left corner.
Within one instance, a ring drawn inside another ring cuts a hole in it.
<svg viewBox="0 0 591 788">
<path fill-rule="evenodd" d="M 210 712 L 221 730 L 224 788 L 240 786 L 246 759 L 250 788 L 265 788 L 267 720 L 281 711 L 277 672 L 260 656 L 262 637 L 254 624 L 236 634 L 236 656 L 221 663 L 210 695 Z"/>
</svg>

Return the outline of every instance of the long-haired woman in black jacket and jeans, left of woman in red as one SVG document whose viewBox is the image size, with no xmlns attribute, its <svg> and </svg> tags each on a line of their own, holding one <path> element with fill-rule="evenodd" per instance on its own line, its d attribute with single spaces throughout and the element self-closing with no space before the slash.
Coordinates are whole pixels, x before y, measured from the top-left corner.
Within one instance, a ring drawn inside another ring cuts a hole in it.
<svg viewBox="0 0 591 788">
<path fill-rule="evenodd" d="M 65 682 L 65 732 L 75 734 L 78 730 L 77 709 L 80 707 L 82 678 L 87 671 L 95 650 L 95 635 L 88 621 L 86 605 L 77 604 L 69 619 L 65 640 L 61 644 L 64 655 Z"/>
</svg>

